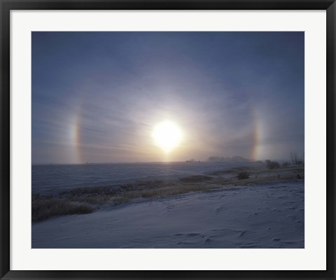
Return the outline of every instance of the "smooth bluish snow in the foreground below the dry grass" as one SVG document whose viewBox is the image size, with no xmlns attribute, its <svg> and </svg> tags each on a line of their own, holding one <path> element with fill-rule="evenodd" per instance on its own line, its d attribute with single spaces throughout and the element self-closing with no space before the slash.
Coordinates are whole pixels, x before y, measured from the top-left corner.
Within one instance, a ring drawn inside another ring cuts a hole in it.
<svg viewBox="0 0 336 280">
<path fill-rule="evenodd" d="M 52 218 L 31 236 L 32 248 L 304 248 L 304 180 Z"/>
</svg>

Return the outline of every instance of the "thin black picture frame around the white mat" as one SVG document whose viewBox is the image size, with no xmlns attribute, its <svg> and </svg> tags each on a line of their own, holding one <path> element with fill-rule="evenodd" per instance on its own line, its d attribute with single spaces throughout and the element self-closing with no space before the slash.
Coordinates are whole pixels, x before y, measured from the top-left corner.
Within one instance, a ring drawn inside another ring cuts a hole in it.
<svg viewBox="0 0 336 280">
<path fill-rule="evenodd" d="M 0 0 L 1 279 L 336 279 L 335 277 L 335 0 Z M 10 10 L 326 10 L 327 269 L 325 271 L 15 271 L 10 270 Z"/>
</svg>

